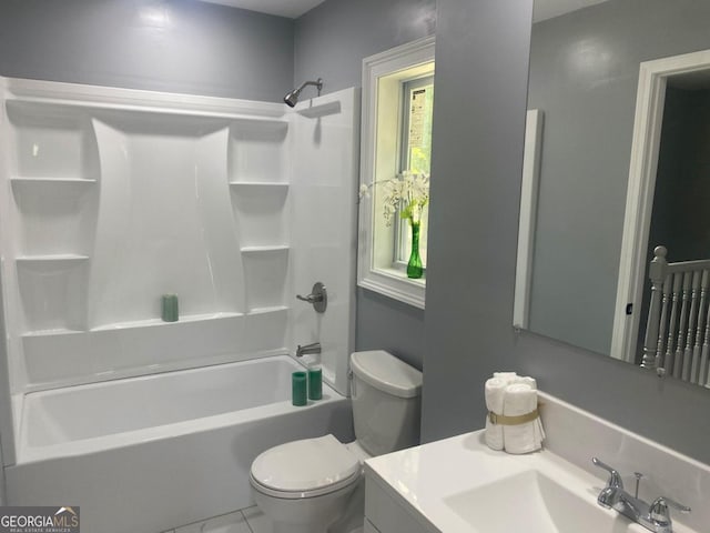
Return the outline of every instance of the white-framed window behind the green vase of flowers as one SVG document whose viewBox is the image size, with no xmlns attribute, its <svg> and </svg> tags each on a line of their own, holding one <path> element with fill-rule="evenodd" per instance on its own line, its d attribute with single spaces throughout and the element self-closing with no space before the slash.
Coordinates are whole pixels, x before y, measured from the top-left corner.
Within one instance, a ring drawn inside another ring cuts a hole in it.
<svg viewBox="0 0 710 533">
<path fill-rule="evenodd" d="M 363 61 L 363 124 L 358 285 L 424 308 L 425 278 L 407 278 L 412 229 L 384 217 L 386 182 L 405 171 L 429 174 L 434 101 L 434 38 Z M 402 207 L 402 205 L 400 205 Z M 428 210 L 422 212 L 419 253 L 426 266 Z"/>
</svg>

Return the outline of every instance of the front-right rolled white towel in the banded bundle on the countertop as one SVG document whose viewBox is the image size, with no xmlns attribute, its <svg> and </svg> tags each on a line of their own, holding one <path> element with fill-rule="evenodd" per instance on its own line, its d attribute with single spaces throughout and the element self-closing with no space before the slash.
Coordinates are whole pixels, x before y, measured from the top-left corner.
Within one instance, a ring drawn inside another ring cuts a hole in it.
<svg viewBox="0 0 710 533">
<path fill-rule="evenodd" d="M 503 414 L 520 416 L 537 409 L 537 391 L 529 383 L 513 383 L 505 389 Z M 528 453 L 539 450 L 542 435 L 537 421 L 518 425 L 504 425 L 503 440 L 508 453 Z"/>
</svg>

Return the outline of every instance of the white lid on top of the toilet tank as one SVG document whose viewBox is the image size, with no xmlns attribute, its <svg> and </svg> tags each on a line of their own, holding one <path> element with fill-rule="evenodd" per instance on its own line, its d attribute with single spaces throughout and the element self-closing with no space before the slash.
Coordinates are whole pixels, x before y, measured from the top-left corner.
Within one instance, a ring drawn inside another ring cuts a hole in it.
<svg viewBox="0 0 710 533">
<path fill-rule="evenodd" d="M 377 390 L 399 398 L 422 393 L 422 372 L 384 350 L 353 352 L 353 373 Z"/>
</svg>

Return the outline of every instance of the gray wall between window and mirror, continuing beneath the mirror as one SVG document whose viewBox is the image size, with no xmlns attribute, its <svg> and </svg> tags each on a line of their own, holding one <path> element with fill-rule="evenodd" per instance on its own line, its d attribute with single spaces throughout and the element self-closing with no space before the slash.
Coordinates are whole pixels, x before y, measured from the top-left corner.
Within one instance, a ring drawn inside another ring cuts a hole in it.
<svg viewBox="0 0 710 533">
<path fill-rule="evenodd" d="M 710 392 L 510 326 L 530 16 L 531 0 L 438 0 L 423 435 L 481 428 L 485 380 L 516 370 L 708 463 Z"/>
</svg>

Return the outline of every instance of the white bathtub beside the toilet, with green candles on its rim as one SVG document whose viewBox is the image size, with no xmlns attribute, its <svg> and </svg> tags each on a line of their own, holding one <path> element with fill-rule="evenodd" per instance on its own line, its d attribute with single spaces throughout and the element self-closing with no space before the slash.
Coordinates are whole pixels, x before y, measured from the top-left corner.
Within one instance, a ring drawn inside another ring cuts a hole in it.
<svg viewBox="0 0 710 533">
<path fill-rule="evenodd" d="M 28 394 L 8 505 L 78 505 L 83 533 L 159 533 L 252 505 L 253 459 L 352 439 L 349 400 L 291 404 L 287 355 Z"/>
</svg>

